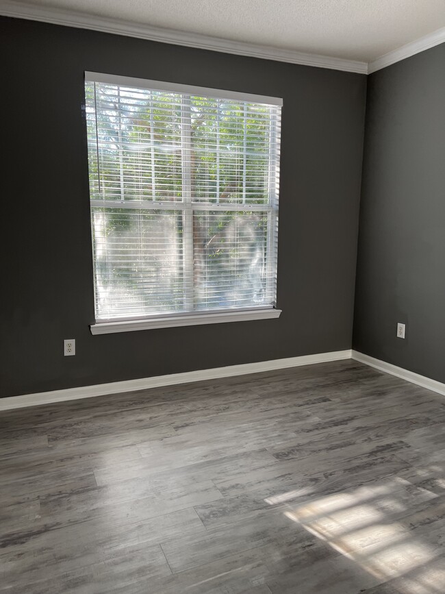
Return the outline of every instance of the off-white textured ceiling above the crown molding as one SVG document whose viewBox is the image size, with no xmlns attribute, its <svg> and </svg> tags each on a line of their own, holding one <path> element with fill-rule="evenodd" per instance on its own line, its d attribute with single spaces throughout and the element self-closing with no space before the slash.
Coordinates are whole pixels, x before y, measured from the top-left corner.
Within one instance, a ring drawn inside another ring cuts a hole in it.
<svg viewBox="0 0 445 594">
<path fill-rule="evenodd" d="M 445 0 L 27 0 L 25 3 L 363 62 L 445 26 Z"/>
</svg>

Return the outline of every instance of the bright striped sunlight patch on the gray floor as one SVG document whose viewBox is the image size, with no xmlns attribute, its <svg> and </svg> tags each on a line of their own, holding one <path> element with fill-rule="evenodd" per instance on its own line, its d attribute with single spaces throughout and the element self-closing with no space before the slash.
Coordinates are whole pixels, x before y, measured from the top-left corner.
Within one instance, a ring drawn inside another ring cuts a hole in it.
<svg viewBox="0 0 445 594">
<path fill-rule="evenodd" d="M 304 501 L 308 493 L 301 489 L 268 497 L 266 502 L 271 505 L 284 503 L 285 516 L 342 556 L 353 560 L 377 580 L 396 580 L 395 591 L 443 594 L 445 562 L 438 558 L 433 544 L 411 532 L 409 508 L 413 504 L 411 495 L 403 491 L 406 486 L 416 489 L 417 498 L 414 495 L 412 498 L 414 505 L 437 497 L 424 488 L 413 487 L 405 479 L 388 478 L 379 486 L 361 486 L 319 499 Z M 295 504 L 296 499 L 303 499 L 303 502 Z M 405 524 L 400 521 L 401 514 Z M 414 521 L 420 525 L 424 511 L 420 509 L 415 513 L 413 510 L 413 514 Z"/>
</svg>

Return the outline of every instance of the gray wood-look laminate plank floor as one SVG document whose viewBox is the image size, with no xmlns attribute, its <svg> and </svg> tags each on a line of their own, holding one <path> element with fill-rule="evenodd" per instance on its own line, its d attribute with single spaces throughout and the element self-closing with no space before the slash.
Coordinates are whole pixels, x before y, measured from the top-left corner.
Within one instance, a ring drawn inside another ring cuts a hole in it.
<svg viewBox="0 0 445 594">
<path fill-rule="evenodd" d="M 0 592 L 445 593 L 445 399 L 351 360 L 4 412 Z"/>
</svg>

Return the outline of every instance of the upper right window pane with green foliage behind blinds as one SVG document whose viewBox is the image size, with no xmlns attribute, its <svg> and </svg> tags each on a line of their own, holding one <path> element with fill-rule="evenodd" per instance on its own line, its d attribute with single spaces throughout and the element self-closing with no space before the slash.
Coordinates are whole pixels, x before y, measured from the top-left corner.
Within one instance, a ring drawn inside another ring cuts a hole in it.
<svg viewBox="0 0 445 594">
<path fill-rule="evenodd" d="M 192 199 L 267 203 L 270 107 L 194 96 L 190 101 Z"/>
</svg>

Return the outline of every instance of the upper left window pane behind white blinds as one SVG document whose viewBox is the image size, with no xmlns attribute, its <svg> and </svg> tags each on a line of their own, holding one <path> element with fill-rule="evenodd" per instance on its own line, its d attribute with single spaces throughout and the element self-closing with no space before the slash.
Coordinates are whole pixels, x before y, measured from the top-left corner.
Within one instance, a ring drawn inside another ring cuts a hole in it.
<svg viewBox="0 0 445 594">
<path fill-rule="evenodd" d="M 96 153 L 90 177 L 98 176 L 94 195 L 181 200 L 181 95 L 99 83 L 87 86 L 86 94 L 88 141 Z"/>
</svg>

